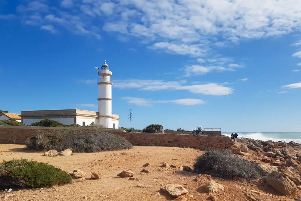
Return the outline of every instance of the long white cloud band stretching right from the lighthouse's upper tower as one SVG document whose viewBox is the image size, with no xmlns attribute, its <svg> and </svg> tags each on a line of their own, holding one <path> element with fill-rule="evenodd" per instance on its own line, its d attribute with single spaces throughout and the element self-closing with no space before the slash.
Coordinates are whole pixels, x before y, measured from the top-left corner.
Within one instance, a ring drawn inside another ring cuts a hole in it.
<svg viewBox="0 0 301 201">
<path fill-rule="evenodd" d="M 182 81 L 163 80 L 115 80 L 114 87 L 119 89 L 138 89 L 145 91 L 160 91 L 160 90 L 187 90 L 191 93 L 200 93 L 205 95 L 223 96 L 231 94 L 233 89 L 217 83 L 208 84 L 186 84 Z"/>
</svg>

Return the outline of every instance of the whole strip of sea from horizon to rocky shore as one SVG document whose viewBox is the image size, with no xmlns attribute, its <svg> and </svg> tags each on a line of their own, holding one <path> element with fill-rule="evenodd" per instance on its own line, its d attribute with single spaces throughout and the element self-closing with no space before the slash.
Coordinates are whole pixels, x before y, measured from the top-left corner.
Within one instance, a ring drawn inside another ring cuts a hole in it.
<svg viewBox="0 0 301 201">
<path fill-rule="evenodd" d="M 222 135 L 231 136 L 235 132 L 222 132 Z M 284 141 L 289 143 L 290 141 L 301 143 L 301 132 L 236 132 L 238 138 L 251 138 L 254 140 L 273 140 Z"/>
</svg>

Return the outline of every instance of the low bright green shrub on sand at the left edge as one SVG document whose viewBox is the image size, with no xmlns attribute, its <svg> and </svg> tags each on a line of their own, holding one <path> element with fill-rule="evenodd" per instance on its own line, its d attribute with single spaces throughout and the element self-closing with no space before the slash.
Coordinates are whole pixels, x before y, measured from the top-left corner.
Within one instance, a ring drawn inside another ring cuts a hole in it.
<svg viewBox="0 0 301 201">
<path fill-rule="evenodd" d="M 67 184 L 72 177 L 52 165 L 26 159 L 0 163 L 0 189 Z"/>
</svg>

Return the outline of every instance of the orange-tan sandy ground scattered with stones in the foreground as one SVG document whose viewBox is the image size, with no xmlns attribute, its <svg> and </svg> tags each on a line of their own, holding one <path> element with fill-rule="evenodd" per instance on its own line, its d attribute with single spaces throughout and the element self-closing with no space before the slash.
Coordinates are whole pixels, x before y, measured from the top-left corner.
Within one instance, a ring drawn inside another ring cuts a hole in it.
<svg viewBox="0 0 301 201">
<path fill-rule="evenodd" d="M 194 181 L 197 174 L 177 169 L 158 171 L 161 162 L 177 167 L 181 165 L 192 166 L 196 157 L 202 153 L 203 151 L 189 148 L 134 146 L 130 150 L 74 153 L 71 156 L 46 157 L 43 156 L 43 152 L 28 150 L 24 145 L 0 144 L 0 159 L 3 160 L 23 158 L 48 162 L 67 172 L 80 169 L 87 173 L 88 178 L 92 172 L 103 174 L 103 178 L 100 180 L 87 179 L 75 184 L 50 188 L 13 190 L 12 193 L 15 196 L 5 200 L 172 200 L 166 195 L 160 195 L 158 193 L 160 188 L 166 184 L 181 184 L 189 193 L 174 200 L 205 201 L 208 200 L 211 194 L 198 192 L 198 187 L 202 182 Z M 147 162 L 151 163 L 150 167 L 146 167 L 149 173 L 140 173 L 143 169 L 142 165 Z M 124 169 L 134 171 L 134 177 L 138 179 L 129 180 L 128 178 L 116 177 L 116 174 Z M 246 189 L 258 191 L 259 193 L 254 193 L 254 196 L 262 201 L 290 201 L 301 197 L 301 190 L 297 191 L 296 196 L 289 198 L 280 196 L 267 185 L 254 185 L 251 182 L 229 181 L 220 178 L 213 178 L 213 180 L 225 187 L 225 191 L 213 194 L 216 195 L 216 201 L 248 200 L 244 195 L 247 192 Z M 136 187 L 136 185 L 143 187 Z M 0 197 L 5 192 L 0 192 Z"/>
</svg>

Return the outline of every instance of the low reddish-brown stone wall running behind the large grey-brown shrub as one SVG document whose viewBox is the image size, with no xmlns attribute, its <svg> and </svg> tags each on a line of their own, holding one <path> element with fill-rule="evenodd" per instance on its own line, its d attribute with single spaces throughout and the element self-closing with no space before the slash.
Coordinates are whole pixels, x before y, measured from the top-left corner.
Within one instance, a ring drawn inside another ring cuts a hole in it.
<svg viewBox="0 0 301 201">
<path fill-rule="evenodd" d="M 58 127 L 32 127 L 32 126 L 0 126 L 0 143 L 25 144 L 26 139 L 36 135 L 40 130 L 60 130 Z M 76 129 L 76 128 L 71 128 Z M 106 129 L 102 129 L 106 130 Z M 200 136 L 183 134 L 162 134 L 162 133 L 135 133 L 124 132 L 123 130 L 108 129 L 110 133 L 123 136 L 134 146 L 175 146 L 191 147 L 201 150 L 207 149 L 231 149 L 234 144 L 230 137 Z"/>
</svg>

